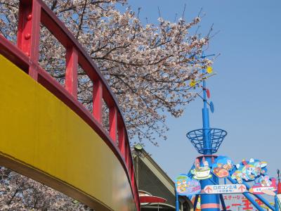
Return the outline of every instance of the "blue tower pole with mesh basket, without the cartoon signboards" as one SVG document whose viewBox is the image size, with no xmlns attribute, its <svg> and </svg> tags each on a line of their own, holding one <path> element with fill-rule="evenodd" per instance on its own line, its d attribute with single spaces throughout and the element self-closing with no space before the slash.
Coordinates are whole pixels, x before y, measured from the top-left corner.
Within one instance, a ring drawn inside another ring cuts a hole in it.
<svg viewBox="0 0 281 211">
<path fill-rule="evenodd" d="M 206 70 L 203 70 L 203 74 L 206 75 Z M 214 155 L 218 151 L 219 146 L 223 139 L 225 138 L 227 132 L 223 129 L 210 128 L 209 126 L 209 108 L 211 112 L 214 113 L 214 104 L 212 102 L 208 103 L 207 97 L 209 98 L 209 90 L 206 87 L 205 79 L 203 79 L 203 97 L 200 96 L 203 100 L 204 107 L 202 108 L 202 120 L 203 128 L 195 129 L 191 132 L 188 132 L 187 136 L 190 139 L 193 146 L 195 146 L 198 153 L 202 154 L 197 158 L 200 161 L 200 165 L 211 165 L 214 163 Z M 204 189 L 207 185 L 218 184 L 217 177 L 211 177 L 209 179 L 200 180 L 201 188 Z M 197 198 L 195 198 L 195 205 L 197 203 Z M 220 209 L 220 197 L 218 194 L 201 194 L 201 209 L 204 211 L 218 211 Z"/>
</svg>

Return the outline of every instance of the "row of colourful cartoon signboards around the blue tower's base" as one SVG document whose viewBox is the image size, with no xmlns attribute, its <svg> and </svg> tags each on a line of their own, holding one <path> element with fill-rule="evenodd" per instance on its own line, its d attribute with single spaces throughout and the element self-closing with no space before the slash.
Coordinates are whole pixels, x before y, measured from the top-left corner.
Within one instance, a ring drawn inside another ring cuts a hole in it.
<svg viewBox="0 0 281 211">
<path fill-rule="evenodd" d="M 266 174 L 267 162 L 251 158 L 242 160 L 234 165 L 233 160 L 227 156 L 212 156 L 207 161 L 204 156 L 195 159 L 189 174 L 180 174 L 176 177 L 175 185 L 178 195 L 193 196 L 197 194 L 218 193 L 245 193 L 266 194 L 275 196 L 277 191 L 276 179 Z M 234 179 L 233 184 L 213 184 L 201 189 L 200 181 L 217 177 L 218 179 Z M 247 187 L 245 182 L 251 182 Z"/>
</svg>

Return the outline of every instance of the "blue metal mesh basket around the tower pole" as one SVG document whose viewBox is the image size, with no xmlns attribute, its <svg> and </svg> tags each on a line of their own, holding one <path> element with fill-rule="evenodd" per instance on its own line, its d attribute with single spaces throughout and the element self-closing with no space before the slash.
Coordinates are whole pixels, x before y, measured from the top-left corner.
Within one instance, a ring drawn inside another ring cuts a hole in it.
<svg viewBox="0 0 281 211">
<path fill-rule="evenodd" d="M 209 140 L 211 141 L 211 148 L 204 148 L 204 140 L 203 140 L 203 134 L 204 130 L 207 130 L 207 134 L 209 136 Z M 195 129 L 186 136 L 188 136 L 188 139 L 190 139 L 190 142 L 195 146 L 198 153 L 205 154 L 208 153 L 216 153 L 218 151 L 219 146 L 221 146 L 221 142 L 223 142 L 224 137 L 226 136 L 227 132 L 223 129 L 216 129 L 216 128 L 210 128 L 210 129 Z"/>
</svg>

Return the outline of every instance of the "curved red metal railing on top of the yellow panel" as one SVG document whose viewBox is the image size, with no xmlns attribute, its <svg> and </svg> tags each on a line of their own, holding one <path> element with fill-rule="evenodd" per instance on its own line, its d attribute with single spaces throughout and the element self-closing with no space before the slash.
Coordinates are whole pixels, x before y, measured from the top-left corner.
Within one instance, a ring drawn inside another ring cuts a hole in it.
<svg viewBox="0 0 281 211">
<path fill-rule="evenodd" d="M 41 0 L 20 0 L 17 46 L 0 35 L 0 53 L 51 91 L 84 119 L 103 138 L 126 171 L 139 210 L 138 188 L 133 170 L 124 117 L 97 65 L 67 27 Z M 66 49 L 65 87 L 39 65 L 40 25 L 44 25 Z M 93 113 L 77 101 L 78 65 L 93 82 Z M 103 127 L 103 101 L 109 108 L 109 131 Z"/>
</svg>

